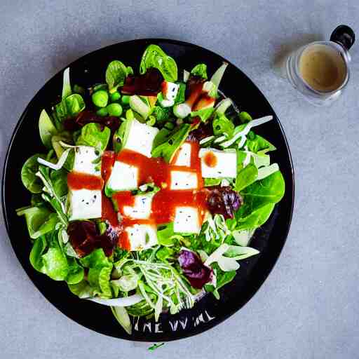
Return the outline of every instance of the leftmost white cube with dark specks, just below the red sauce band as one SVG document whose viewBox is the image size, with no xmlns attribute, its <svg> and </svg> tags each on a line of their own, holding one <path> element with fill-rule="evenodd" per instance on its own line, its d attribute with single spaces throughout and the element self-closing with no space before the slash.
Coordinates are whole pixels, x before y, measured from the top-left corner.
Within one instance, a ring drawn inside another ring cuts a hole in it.
<svg viewBox="0 0 359 359">
<path fill-rule="evenodd" d="M 100 218 L 101 190 L 76 189 L 69 191 L 69 220 Z"/>
</svg>

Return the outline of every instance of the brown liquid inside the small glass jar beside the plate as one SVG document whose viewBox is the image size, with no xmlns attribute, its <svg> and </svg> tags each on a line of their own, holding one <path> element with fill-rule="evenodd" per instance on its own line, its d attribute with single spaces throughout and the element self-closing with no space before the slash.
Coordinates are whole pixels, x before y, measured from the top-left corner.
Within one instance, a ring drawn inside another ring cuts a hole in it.
<svg viewBox="0 0 359 359">
<path fill-rule="evenodd" d="M 344 83 L 346 63 L 339 51 L 318 44 L 304 50 L 299 60 L 299 72 L 311 88 L 327 93 Z"/>
</svg>

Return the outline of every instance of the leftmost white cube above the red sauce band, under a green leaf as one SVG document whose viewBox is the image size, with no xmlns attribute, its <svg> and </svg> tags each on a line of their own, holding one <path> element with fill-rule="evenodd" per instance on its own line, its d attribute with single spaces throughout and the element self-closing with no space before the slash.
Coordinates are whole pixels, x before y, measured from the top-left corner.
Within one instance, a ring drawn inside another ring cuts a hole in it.
<svg viewBox="0 0 359 359">
<path fill-rule="evenodd" d="M 101 175 L 101 156 L 95 147 L 79 146 L 75 148 L 74 171 L 88 175 Z"/>
</svg>

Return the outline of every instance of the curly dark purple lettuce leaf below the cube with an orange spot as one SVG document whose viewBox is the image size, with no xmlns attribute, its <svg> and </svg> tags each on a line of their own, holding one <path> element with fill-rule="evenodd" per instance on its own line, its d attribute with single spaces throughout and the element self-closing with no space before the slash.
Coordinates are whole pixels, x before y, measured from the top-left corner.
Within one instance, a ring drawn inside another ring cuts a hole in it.
<svg viewBox="0 0 359 359">
<path fill-rule="evenodd" d="M 207 187 L 207 206 L 212 215 L 223 215 L 225 219 L 234 218 L 234 213 L 241 207 L 243 199 L 231 187 Z"/>
</svg>

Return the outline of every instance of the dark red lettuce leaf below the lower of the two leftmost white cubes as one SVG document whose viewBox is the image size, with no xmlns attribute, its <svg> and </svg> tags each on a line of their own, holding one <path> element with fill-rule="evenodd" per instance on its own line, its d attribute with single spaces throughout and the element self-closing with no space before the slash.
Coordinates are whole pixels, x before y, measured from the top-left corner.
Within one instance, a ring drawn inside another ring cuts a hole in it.
<svg viewBox="0 0 359 359">
<path fill-rule="evenodd" d="M 67 234 L 72 247 L 79 257 L 89 255 L 97 248 L 102 248 L 104 254 L 109 257 L 114 250 L 118 236 L 118 233 L 111 227 L 100 235 L 96 224 L 90 221 L 70 222 L 67 227 Z"/>
</svg>

